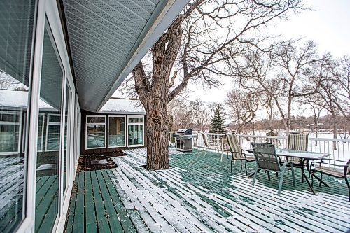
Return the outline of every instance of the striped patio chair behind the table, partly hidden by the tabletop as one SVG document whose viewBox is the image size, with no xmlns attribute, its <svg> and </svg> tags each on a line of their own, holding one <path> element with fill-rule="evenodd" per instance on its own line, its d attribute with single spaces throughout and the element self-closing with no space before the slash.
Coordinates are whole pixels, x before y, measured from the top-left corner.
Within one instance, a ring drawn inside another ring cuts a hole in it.
<svg viewBox="0 0 350 233">
<path fill-rule="evenodd" d="M 302 133 L 290 133 L 288 135 L 288 150 L 304 150 L 307 151 L 307 145 L 309 143 L 309 134 Z M 293 166 L 304 169 L 302 160 L 297 157 L 287 157 L 288 161 L 293 162 Z M 302 176 L 302 183 L 304 183 L 304 176 Z"/>
</svg>

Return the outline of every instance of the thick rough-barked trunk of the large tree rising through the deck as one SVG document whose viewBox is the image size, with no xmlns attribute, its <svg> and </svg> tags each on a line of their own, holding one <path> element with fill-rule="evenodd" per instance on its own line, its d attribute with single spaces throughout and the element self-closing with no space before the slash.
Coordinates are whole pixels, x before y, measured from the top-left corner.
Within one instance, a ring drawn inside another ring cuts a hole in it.
<svg viewBox="0 0 350 233">
<path fill-rule="evenodd" d="M 135 90 L 146 110 L 148 170 L 169 168 L 167 104 L 170 71 L 181 44 L 183 16 L 172 23 L 153 45 L 153 72 L 146 75 L 142 62 L 132 70 Z"/>
</svg>

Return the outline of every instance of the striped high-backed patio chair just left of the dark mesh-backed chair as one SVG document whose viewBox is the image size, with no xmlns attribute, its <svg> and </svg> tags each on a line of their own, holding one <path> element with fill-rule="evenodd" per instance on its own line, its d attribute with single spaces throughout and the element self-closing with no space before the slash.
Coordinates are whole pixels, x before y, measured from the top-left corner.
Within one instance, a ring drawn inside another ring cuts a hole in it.
<svg viewBox="0 0 350 233">
<path fill-rule="evenodd" d="M 255 161 L 255 157 L 253 155 L 246 155 L 242 152 L 241 146 L 239 146 L 238 138 L 236 134 L 226 134 L 228 138 L 228 146 L 230 146 L 231 152 L 231 172 L 232 172 L 232 162 L 233 160 L 241 161 L 241 169 L 242 169 L 242 161 L 244 161 L 244 168 L 246 169 L 246 164 L 248 162 Z M 248 171 L 246 170 L 246 176 L 248 176 Z"/>
</svg>

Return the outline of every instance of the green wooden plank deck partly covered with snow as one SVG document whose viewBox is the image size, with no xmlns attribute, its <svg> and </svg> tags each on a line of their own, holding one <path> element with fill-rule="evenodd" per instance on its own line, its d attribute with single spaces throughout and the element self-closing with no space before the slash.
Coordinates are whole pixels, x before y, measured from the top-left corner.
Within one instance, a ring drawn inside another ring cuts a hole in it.
<svg viewBox="0 0 350 233">
<path fill-rule="evenodd" d="M 220 155 L 171 150 L 172 168 L 146 171 L 146 150 L 125 150 L 118 168 L 77 175 L 66 232 L 346 232 L 350 202 L 346 183 L 327 177 L 330 187 L 316 196 L 286 174 L 280 195 L 278 178 L 260 172 L 252 178 Z M 255 164 L 249 164 L 250 173 Z"/>
</svg>

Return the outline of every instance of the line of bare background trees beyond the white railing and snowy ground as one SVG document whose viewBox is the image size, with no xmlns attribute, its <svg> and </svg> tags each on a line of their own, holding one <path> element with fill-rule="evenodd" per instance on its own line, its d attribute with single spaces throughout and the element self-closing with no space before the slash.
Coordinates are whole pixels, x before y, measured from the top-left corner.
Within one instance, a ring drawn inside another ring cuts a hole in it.
<svg viewBox="0 0 350 233">
<path fill-rule="evenodd" d="M 335 59 L 329 52 L 318 55 L 314 41 L 302 45 L 300 41 L 281 41 L 264 50 L 255 47 L 228 66 L 234 88 L 222 104 L 233 132 L 241 133 L 255 126 L 283 128 L 288 135 L 290 129 L 311 125 L 317 136 L 323 121 L 321 128 L 330 129 L 334 138 L 339 132 L 349 132 L 349 56 Z M 180 109 L 174 108 L 179 104 Z M 213 103 L 206 104 L 200 99 L 188 105 L 176 99 L 168 109 L 172 109 L 169 114 L 173 127 L 186 125 L 206 130 L 213 118 Z M 300 109 L 312 116 L 295 117 Z M 257 119 L 258 111 L 265 112 L 267 119 Z"/>
</svg>

